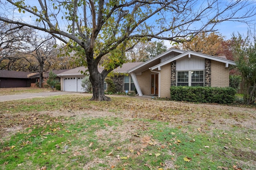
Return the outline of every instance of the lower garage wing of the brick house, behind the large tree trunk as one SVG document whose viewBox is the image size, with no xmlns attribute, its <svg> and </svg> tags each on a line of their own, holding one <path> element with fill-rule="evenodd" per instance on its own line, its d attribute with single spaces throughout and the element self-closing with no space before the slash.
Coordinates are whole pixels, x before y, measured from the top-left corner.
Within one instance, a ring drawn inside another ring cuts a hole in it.
<svg viewBox="0 0 256 170">
<path fill-rule="evenodd" d="M 131 76 L 128 74 L 128 70 L 134 68 L 135 66 L 138 66 L 139 64 L 142 64 L 142 62 L 124 63 L 121 68 L 118 67 L 112 71 L 113 73 L 115 73 L 114 76 L 111 78 L 112 80 L 114 80 L 116 91 L 134 91 L 135 86 Z M 68 92 L 84 92 L 81 83 L 85 76 L 84 74 L 81 74 L 81 71 L 85 72 L 85 70 L 86 68 L 84 66 L 81 66 L 68 70 L 66 72 L 62 72 L 61 74 L 57 74 L 57 76 L 61 77 L 61 90 Z M 102 72 L 103 68 L 99 66 L 98 70 Z"/>
</svg>

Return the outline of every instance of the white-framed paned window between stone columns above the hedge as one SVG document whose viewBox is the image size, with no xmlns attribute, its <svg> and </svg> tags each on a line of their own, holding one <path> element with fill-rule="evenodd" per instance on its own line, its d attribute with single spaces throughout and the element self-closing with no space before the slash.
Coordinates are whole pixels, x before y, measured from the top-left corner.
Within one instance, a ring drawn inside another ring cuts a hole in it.
<svg viewBox="0 0 256 170">
<path fill-rule="evenodd" d="M 204 71 L 178 71 L 177 86 L 204 86 Z"/>
</svg>

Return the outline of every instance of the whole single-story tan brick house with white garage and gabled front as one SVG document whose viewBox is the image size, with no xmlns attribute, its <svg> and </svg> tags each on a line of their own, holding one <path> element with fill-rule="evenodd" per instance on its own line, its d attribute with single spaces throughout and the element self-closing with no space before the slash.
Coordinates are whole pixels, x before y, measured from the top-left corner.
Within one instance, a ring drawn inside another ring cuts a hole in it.
<svg viewBox="0 0 256 170">
<path fill-rule="evenodd" d="M 172 48 L 146 62 L 123 64 L 112 71 L 117 73 L 112 79 L 117 91 L 132 92 L 136 88 L 139 96 L 170 98 L 171 86 L 228 87 L 229 70 L 234 66 L 236 63 L 225 56 L 214 57 Z M 62 91 L 83 91 L 81 70 L 85 68 L 82 66 L 58 74 Z"/>
</svg>

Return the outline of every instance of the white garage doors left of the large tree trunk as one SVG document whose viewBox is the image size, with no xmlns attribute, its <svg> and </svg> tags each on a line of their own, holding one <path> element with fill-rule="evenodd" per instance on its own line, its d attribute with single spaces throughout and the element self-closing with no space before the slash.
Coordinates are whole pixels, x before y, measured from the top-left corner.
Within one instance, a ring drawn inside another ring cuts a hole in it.
<svg viewBox="0 0 256 170">
<path fill-rule="evenodd" d="M 81 86 L 83 77 L 66 77 L 64 78 L 64 88 L 63 91 L 67 92 L 83 92 L 83 88 Z"/>
</svg>

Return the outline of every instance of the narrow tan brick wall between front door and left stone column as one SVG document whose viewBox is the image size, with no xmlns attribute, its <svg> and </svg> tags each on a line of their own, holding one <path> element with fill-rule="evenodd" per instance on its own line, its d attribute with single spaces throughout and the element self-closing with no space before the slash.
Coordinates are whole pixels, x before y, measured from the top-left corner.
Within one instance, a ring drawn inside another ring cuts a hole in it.
<svg viewBox="0 0 256 170">
<path fill-rule="evenodd" d="M 171 63 L 162 66 L 161 68 L 161 82 L 160 82 L 160 97 L 170 98 L 171 87 Z"/>
</svg>

